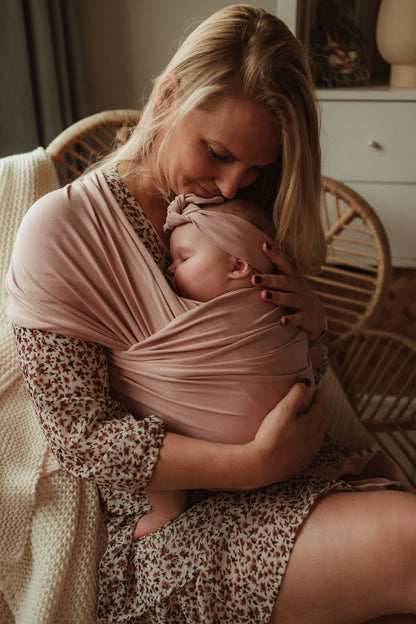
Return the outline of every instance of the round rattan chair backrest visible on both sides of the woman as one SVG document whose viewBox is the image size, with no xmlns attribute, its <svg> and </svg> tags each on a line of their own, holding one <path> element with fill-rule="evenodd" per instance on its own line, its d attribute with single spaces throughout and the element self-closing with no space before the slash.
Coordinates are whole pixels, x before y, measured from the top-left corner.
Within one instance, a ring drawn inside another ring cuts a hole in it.
<svg viewBox="0 0 416 624">
<path fill-rule="evenodd" d="M 64 130 L 47 147 L 62 184 L 111 151 L 118 133 L 138 119 L 137 110 L 106 111 Z M 369 325 L 382 308 L 390 284 L 390 249 L 374 210 L 352 189 L 326 177 L 322 216 L 328 257 L 322 273 L 310 281 L 325 306 L 329 334 L 336 339 L 350 327 Z"/>
</svg>

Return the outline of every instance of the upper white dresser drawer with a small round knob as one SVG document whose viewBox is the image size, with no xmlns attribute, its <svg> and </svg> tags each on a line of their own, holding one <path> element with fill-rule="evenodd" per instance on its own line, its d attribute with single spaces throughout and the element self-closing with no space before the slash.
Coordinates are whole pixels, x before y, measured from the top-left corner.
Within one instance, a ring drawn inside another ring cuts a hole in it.
<svg viewBox="0 0 416 624">
<path fill-rule="evenodd" d="M 321 110 L 325 175 L 416 182 L 416 102 L 323 100 Z"/>
</svg>

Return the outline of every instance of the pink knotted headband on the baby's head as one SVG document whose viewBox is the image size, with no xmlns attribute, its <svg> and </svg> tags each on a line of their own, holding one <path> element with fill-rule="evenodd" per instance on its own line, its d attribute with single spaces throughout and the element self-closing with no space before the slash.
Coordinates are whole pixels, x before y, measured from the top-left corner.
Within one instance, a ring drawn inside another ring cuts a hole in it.
<svg viewBox="0 0 416 624">
<path fill-rule="evenodd" d="M 262 249 L 263 243 L 273 246 L 270 236 L 241 217 L 200 208 L 200 205 L 223 202 L 221 196 L 207 199 L 192 194 L 177 195 L 168 206 L 163 229 L 166 232 L 184 223 L 194 223 L 220 249 L 245 260 L 260 273 L 273 273 L 274 265 Z"/>
</svg>

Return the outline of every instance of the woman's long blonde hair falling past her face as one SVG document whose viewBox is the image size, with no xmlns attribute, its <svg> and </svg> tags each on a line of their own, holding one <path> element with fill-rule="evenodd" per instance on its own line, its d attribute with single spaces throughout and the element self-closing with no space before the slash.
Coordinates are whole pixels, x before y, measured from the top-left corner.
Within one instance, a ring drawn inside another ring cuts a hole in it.
<svg viewBox="0 0 416 624">
<path fill-rule="evenodd" d="M 161 107 L 162 94 L 165 100 L 174 96 L 175 106 Z M 279 248 L 297 271 L 319 271 L 326 246 L 319 209 L 319 123 L 313 81 L 300 42 L 264 9 L 228 6 L 202 22 L 155 80 L 130 139 L 101 166 L 126 161 L 131 173 L 144 174 L 141 165 L 163 129 L 158 184 L 168 200 L 163 162 L 172 129 L 188 113 L 213 108 L 230 95 L 262 103 L 275 119 L 281 142 L 279 162 L 263 170 L 239 195 L 268 207 Z"/>
</svg>

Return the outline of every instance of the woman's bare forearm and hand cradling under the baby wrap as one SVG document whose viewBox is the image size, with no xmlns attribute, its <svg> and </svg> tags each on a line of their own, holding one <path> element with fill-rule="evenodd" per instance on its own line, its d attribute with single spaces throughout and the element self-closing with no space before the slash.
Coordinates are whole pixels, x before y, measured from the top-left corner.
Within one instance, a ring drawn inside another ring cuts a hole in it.
<svg viewBox="0 0 416 624">
<path fill-rule="evenodd" d="M 298 414 L 307 386 L 295 384 L 248 444 L 218 444 L 168 433 L 149 489 L 249 490 L 283 481 L 310 465 L 325 434 L 322 394 Z"/>
</svg>

